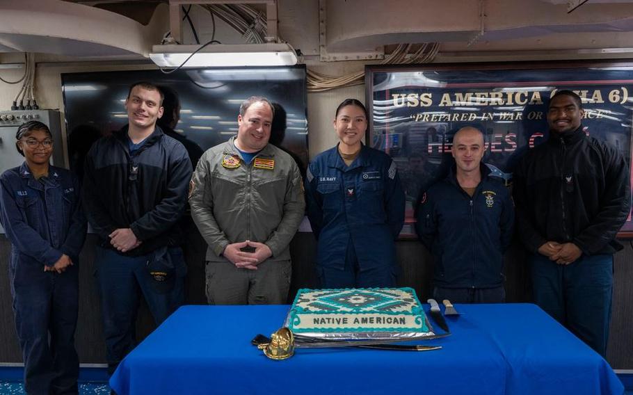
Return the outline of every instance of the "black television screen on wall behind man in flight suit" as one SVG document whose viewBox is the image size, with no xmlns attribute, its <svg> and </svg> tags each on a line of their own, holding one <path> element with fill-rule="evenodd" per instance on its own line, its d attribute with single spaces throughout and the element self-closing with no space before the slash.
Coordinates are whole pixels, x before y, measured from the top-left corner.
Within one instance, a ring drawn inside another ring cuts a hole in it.
<svg viewBox="0 0 633 395">
<path fill-rule="evenodd" d="M 177 92 L 180 102 L 177 134 L 198 145 L 209 147 L 237 134 L 237 115 L 244 99 L 264 96 L 285 111 L 285 133 L 271 133 L 273 140 L 307 166 L 307 97 L 305 66 L 243 67 L 226 69 L 84 72 L 62 74 L 65 120 L 69 134 L 71 166 L 83 163 L 86 145 L 98 136 L 127 124 L 124 102 L 129 86 L 149 81 Z M 275 107 L 273 125 L 282 119 Z M 164 115 L 163 115 L 164 116 Z M 185 145 L 186 146 L 186 145 Z M 195 163 L 194 163 L 195 166 Z M 81 172 L 81 170 L 79 170 Z"/>
</svg>

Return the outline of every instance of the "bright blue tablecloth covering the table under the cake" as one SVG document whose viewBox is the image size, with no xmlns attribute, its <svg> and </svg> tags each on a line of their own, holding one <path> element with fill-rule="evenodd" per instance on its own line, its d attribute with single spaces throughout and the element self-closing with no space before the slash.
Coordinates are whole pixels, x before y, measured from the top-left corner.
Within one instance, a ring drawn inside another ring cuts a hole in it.
<svg viewBox="0 0 633 395">
<path fill-rule="evenodd" d="M 269 360 L 250 344 L 288 306 L 185 306 L 123 360 L 117 394 L 618 394 L 600 355 L 535 305 L 456 305 L 451 336 L 426 352 L 298 349 Z"/>
</svg>

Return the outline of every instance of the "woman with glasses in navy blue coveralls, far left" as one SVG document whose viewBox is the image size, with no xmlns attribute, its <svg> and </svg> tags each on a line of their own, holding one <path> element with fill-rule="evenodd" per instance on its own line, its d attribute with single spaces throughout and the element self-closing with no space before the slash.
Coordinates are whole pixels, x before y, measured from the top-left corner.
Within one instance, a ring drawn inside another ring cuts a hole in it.
<svg viewBox="0 0 633 395">
<path fill-rule="evenodd" d="M 25 161 L 0 176 L 0 223 L 11 242 L 24 385 L 28 394 L 77 394 L 77 263 L 86 238 L 79 184 L 68 170 L 49 165 L 53 138 L 45 124 L 26 122 L 16 138 Z"/>
</svg>

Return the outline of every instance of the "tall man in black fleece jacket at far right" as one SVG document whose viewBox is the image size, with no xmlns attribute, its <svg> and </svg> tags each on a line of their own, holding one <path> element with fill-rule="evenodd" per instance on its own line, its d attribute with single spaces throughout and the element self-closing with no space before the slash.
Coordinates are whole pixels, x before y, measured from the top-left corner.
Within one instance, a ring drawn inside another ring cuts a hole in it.
<svg viewBox="0 0 633 395">
<path fill-rule="evenodd" d="M 518 230 L 531 264 L 534 300 L 605 355 L 616 234 L 630 213 L 623 156 L 582 127 L 582 100 L 570 90 L 550 99 L 550 137 L 514 173 Z"/>
</svg>

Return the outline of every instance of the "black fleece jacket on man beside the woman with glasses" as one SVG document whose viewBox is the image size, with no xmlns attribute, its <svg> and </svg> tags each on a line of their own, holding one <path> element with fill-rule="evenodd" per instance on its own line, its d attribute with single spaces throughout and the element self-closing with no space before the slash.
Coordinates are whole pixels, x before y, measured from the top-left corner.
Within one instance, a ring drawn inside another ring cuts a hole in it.
<svg viewBox="0 0 633 395">
<path fill-rule="evenodd" d="M 124 255 L 179 245 L 183 235 L 177 222 L 192 172 L 189 155 L 160 127 L 131 155 L 127 139 L 126 126 L 88 152 L 82 196 L 90 226 L 106 248 L 113 230 L 131 228 L 143 243 Z"/>
</svg>

